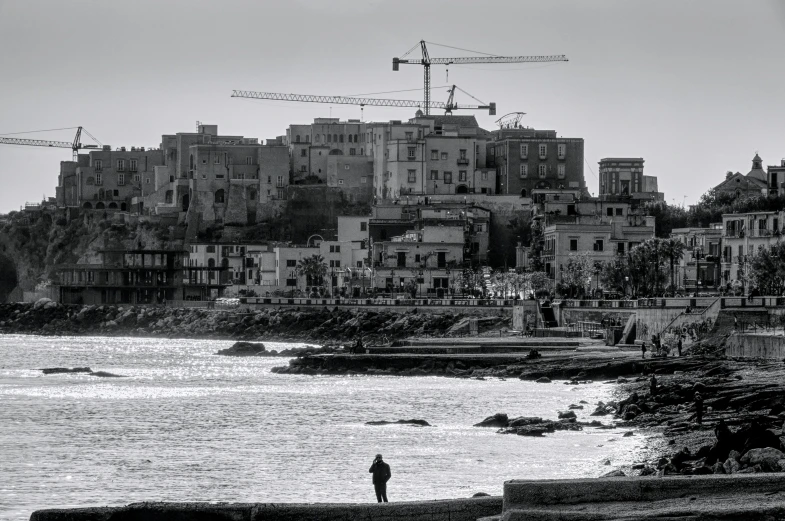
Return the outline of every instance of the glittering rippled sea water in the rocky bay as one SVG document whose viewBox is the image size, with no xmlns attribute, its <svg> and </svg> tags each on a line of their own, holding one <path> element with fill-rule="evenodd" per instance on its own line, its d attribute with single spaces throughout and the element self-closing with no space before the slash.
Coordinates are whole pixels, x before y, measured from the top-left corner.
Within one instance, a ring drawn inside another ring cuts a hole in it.
<svg viewBox="0 0 785 521">
<path fill-rule="evenodd" d="M 645 442 L 471 426 L 495 412 L 555 418 L 607 399 L 607 385 L 277 375 L 270 368 L 286 359 L 213 354 L 228 345 L 0 336 L 0 519 L 143 500 L 374 501 L 377 452 L 392 468 L 391 501 L 499 494 L 507 479 L 597 476 L 605 459 L 630 463 Z M 59 366 L 127 378 L 38 370 Z M 364 425 L 399 418 L 435 426 Z"/>
</svg>

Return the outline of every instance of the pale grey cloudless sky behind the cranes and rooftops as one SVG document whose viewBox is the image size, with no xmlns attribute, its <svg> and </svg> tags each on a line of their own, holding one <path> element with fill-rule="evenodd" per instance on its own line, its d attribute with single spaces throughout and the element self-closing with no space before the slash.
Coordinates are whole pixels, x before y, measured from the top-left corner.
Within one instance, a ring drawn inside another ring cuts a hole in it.
<svg viewBox="0 0 785 521">
<path fill-rule="evenodd" d="M 157 147 L 195 131 L 260 139 L 360 108 L 231 98 L 233 89 L 422 98 L 422 67 L 392 58 L 418 41 L 566 63 L 432 67 L 432 99 L 456 84 L 498 115 L 643 157 L 671 204 L 690 204 L 785 158 L 785 0 L 0 0 L 0 135 L 83 126 L 103 144 Z M 473 53 L 429 44 L 431 57 Z M 414 51 L 412 55 L 418 55 Z M 438 87 L 438 88 L 437 88 Z M 408 91 L 408 89 L 412 89 Z M 474 100 L 457 94 L 456 101 Z M 415 109 L 365 107 L 365 121 Z M 71 141 L 75 130 L 19 137 Z M 91 143 L 83 138 L 83 143 Z M 69 149 L 0 145 L 0 212 L 55 195 Z"/>
</svg>

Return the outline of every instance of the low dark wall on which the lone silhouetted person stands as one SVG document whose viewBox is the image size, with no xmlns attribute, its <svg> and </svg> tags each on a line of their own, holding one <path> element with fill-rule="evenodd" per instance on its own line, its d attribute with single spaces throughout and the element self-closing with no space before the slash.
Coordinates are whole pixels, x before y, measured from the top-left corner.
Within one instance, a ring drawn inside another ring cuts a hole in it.
<svg viewBox="0 0 785 521">
<path fill-rule="evenodd" d="M 501 497 L 384 504 L 135 503 L 124 507 L 38 510 L 30 521 L 476 521 L 498 515 Z"/>
</svg>

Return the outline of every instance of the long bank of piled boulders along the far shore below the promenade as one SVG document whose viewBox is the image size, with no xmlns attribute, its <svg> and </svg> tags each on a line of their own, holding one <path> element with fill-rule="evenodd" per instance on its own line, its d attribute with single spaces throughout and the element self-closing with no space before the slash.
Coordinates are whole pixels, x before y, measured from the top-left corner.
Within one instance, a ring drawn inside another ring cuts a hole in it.
<svg viewBox="0 0 785 521">
<path fill-rule="evenodd" d="M 392 341 L 445 335 L 465 316 L 362 308 L 207 310 L 141 306 L 66 306 L 55 302 L 0 305 L 0 333 L 111 335 L 302 342 Z M 487 321 L 486 321 L 487 322 Z M 508 324 L 491 320 L 488 327 Z"/>
</svg>

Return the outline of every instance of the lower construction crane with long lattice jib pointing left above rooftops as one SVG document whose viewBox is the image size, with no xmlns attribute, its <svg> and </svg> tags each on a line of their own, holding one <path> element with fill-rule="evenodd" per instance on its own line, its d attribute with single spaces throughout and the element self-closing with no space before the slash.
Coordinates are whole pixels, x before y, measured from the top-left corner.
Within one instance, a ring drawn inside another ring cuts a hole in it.
<svg viewBox="0 0 785 521">
<path fill-rule="evenodd" d="M 452 114 L 453 110 L 487 110 L 491 116 L 496 115 L 496 103 L 483 103 L 482 101 L 474 98 L 482 103 L 481 105 L 459 105 L 455 103 L 455 90 L 459 90 L 464 94 L 472 96 L 460 87 L 453 85 L 449 89 L 449 97 L 447 102 L 431 101 L 428 105 L 423 105 L 422 101 L 415 100 L 395 100 L 384 98 L 358 98 L 350 96 L 318 96 L 314 94 L 283 94 L 280 92 L 255 92 L 250 90 L 234 90 L 232 91 L 233 98 L 251 98 L 251 99 L 268 99 L 277 101 L 299 101 L 306 103 L 331 103 L 337 105 L 359 105 L 361 108 L 366 105 L 375 107 L 420 107 L 427 109 L 442 109 L 445 114 Z"/>
</svg>

